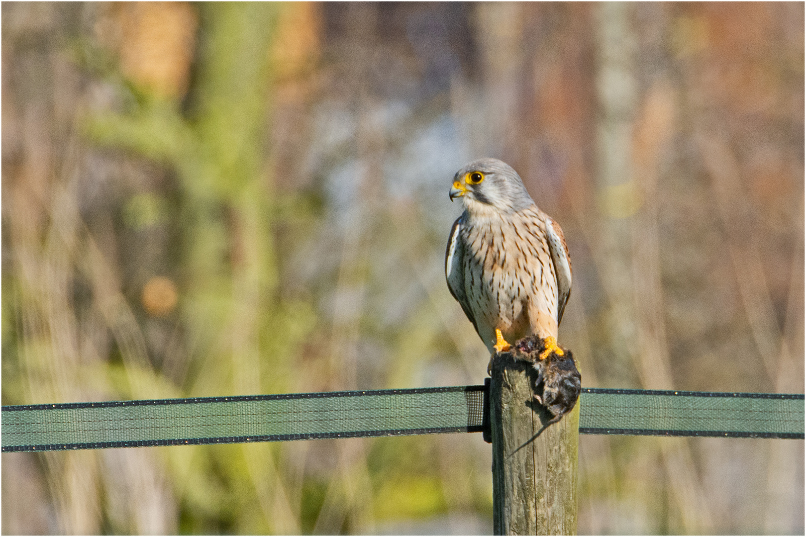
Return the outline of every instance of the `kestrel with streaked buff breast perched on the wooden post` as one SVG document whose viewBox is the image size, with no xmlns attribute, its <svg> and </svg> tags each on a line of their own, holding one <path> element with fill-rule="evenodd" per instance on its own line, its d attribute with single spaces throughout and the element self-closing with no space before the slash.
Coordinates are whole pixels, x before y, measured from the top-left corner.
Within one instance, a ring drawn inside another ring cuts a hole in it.
<svg viewBox="0 0 806 537">
<path fill-rule="evenodd" d="M 555 352 L 557 328 L 571 292 L 571 259 L 554 219 L 534 204 L 521 177 L 497 159 L 474 160 L 454 176 L 451 201 L 462 198 L 445 253 L 451 295 L 490 353 L 537 335 L 541 359 Z"/>
</svg>

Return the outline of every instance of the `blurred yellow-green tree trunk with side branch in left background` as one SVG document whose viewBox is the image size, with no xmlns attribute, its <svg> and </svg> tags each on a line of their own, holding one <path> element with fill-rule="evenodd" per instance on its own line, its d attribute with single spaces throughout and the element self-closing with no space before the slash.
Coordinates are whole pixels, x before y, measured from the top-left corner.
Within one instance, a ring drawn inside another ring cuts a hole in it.
<svg viewBox="0 0 806 537">
<path fill-rule="evenodd" d="M 122 85 L 135 97 L 126 109 L 90 114 L 84 123 L 93 143 L 172 168 L 178 182 L 175 211 L 147 192 L 127 201 L 123 221 L 133 229 L 165 218 L 179 221 L 176 271 L 181 321 L 193 342 L 185 357 L 189 376 L 177 390 L 150 370 L 113 367 L 112 384 L 126 397 L 285 391 L 296 350 L 316 324 L 312 304 L 285 297 L 278 287 L 274 227 L 285 211 L 272 192 L 265 137 L 268 48 L 280 7 L 223 3 L 199 9 L 201 44 L 184 109 Z M 272 494 L 260 489 L 281 480 L 275 465 L 265 464 L 276 446 L 161 451 L 181 501 L 182 532 L 281 531 L 261 506 L 268 500 L 260 499 Z"/>
</svg>

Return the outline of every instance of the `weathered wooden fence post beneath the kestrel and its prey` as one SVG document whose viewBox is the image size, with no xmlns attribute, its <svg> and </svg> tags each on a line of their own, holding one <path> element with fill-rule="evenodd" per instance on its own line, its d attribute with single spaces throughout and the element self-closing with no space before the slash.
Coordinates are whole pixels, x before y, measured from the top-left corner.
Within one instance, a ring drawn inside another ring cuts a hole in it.
<svg viewBox="0 0 806 537">
<path fill-rule="evenodd" d="M 492 361 L 493 533 L 574 535 L 580 404 L 541 432 L 551 415 L 532 399 L 530 368 L 510 353 Z"/>
</svg>

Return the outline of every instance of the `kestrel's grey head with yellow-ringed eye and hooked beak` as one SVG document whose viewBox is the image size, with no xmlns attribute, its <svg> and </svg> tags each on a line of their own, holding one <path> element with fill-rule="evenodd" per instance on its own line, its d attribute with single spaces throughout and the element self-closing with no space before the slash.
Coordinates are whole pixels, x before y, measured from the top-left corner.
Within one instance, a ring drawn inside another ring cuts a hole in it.
<svg viewBox="0 0 806 537">
<path fill-rule="evenodd" d="M 451 201 L 457 197 L 469 213 L 484 209 L 515 213 L 534 204 L 521 176 L 498 159 L 478 159 L 461 167 L 451 187 Z"/>
</svg>

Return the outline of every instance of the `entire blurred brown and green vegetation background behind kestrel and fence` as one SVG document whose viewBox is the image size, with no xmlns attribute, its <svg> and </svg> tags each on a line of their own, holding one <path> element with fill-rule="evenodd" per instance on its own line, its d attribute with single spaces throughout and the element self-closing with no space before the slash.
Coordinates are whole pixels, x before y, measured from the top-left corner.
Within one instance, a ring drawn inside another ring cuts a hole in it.
<svg viewBox="0 0 806 537">
<path fill-rule="evenodd" d="M 584 386 L 804 391 L 802 3 L 2 4 L 2 403 L 482 382 L 454 171 Z M 2 455 L 14 533 L 484 533 L 480 435 Z M 804 532 L 804 442 L 580 438 L 580 533 Z"/>
</svg>

